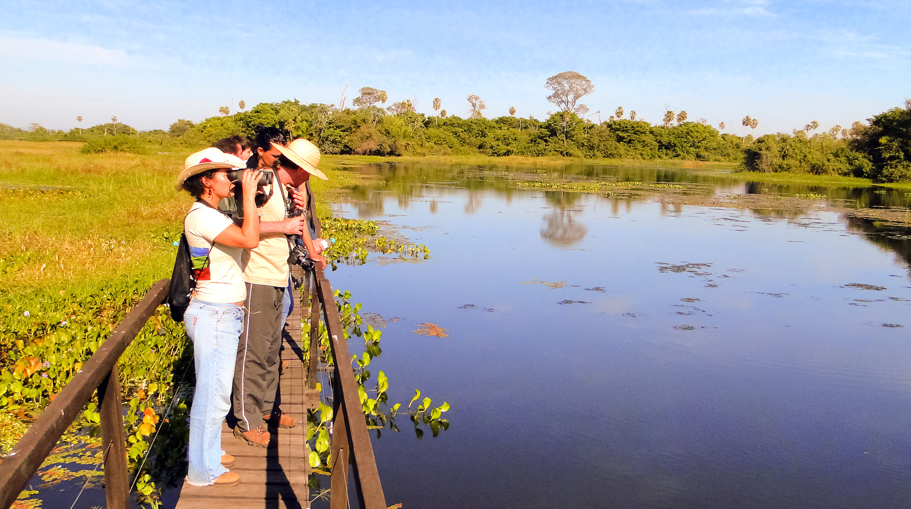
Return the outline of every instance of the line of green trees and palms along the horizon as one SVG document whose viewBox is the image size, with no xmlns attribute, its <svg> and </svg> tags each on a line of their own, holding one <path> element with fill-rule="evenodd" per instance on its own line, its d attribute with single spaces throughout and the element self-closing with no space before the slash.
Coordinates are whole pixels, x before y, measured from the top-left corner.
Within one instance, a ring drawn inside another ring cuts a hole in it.
<svg viewBox="0 0 911 509">
<path fill-rule="evenodd" d="M 819 124 L 814 121 L 791 134 L 741 137 L 722 133 L 724 123 L 716 128 L 705 119 L 691 121 L 686 111 L 670 108 L 665 108 L 660 124 L 623 107 L 607 120 L 601 119 L 600 111 L 586 117 L 589 108 L 579 100 L 591 94 L 594 86 L 574 71 L 550 76 L 545 87 L 551 92 L 548 101 L 558 112 L 548 112 L 540 120 L 518 117 L 515 107 L 509 108 L 508 116 L 486 118 L 486 105 L 476 94 L 466 97 L 466 118 L 447 114 L 439 97 L 432 103 L 433 115 L 416 112 L 416 99 L 384 107 L 389 101 L 384 90 L 363 87 L 352 107 L 346 106 L 344 97 L 338 105 L 294 99 L 261 103 L 249 110 L 241 101 L 241 111 L 231 114 L 230 107 L 220 107 L 218 117 L 198 124 L 179 119 L 167 131 L 140 132 L 112 117 L 110 123 L 66 133 L 37 125 L 26 132 L 0 124 L 0 137 L 84 140 L 88 152 L 140 151 L 142 144 L 199 148 L 222 137 L 253 137 L 261 126 L 277 126 L 293 137 L 312 140 L 325 154 L 694 159 L 742 163 L 750 171 L 911 180 L 911 102 L 870 118 L 867 125 L 855 122 L 850 128 L 835 126 L 815 133 Z M 744 129 L 757 125 L 755 118 L 742 119 Z"/>
</svg>

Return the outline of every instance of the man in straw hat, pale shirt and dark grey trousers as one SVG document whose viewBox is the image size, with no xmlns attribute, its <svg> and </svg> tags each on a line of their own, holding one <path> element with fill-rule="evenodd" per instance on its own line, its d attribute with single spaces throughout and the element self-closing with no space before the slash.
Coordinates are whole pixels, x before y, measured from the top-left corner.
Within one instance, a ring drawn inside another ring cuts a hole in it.
<svg viewBox="0 0 911 509">
<path fill-rule="evenodd" d="M 281 142 L 271 141 L 271 148 L 278 151 L 278 157 L 284 162 L 276 165 L 279 182 L 273 184 L 273 196 L 261 209 L 260 219 L 266 223 L 287 219 L 286 200 L 302 202 L 301 193 L 286 190 L 286 186 L 302 185 L 310 175 L 326 179 L 316 168 L 320 160 L 319 148 L 311 142 L 295 139 L 285 148 Z M 308 248 L 312 248 L 310 236 L 302 235 L 302 238 L 305 244 L 310 244 Z M 261 231 L 259 246 L 245 252 L 243 260 L 250 319 L 244 323 L 234 372 L 233 407 L 237 420 L 234 436 L 261 447 L 268 447 L 270 442 L 265 423 L 282 428 L 297 425 L 290 415 L 282 413 L 275 405 L 281 365 L 281 304 L 289 277 L 288 254 L 288 239 L 284 233 Z M 314 257 L 322 259 L 319 261 L 325 267 L 324 258 Z"/>
</svg>

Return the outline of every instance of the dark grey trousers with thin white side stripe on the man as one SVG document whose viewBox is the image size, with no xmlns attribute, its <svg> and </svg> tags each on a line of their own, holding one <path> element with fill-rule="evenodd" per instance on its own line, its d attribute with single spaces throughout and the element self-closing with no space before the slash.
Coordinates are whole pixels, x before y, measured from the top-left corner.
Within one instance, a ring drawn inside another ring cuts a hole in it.
<svg viewBox="0 0 911 509">
<path fill-rule="evenodd" d="M 243 331 L 237 345 L 231 406 L 242 432 L 263 425 L 279 389 L 283 288 L 247 284 Z"/>
</svg>

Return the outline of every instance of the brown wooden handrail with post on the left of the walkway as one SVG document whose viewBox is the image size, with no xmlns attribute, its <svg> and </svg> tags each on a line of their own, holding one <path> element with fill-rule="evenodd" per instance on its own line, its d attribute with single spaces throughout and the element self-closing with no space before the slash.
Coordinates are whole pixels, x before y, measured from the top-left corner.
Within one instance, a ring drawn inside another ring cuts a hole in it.
<svg viewBox="0 0 911 509">
<path fill-rule="evenodd" d="M 107 341 L 98 347 L 76 376 L 41 412 L 12 452 L 6 455 L 0 463 L 0 487 L 3 488 L 0 490 L 0 507 L 8 509 L 15 502 L 96 389 L 101 402 L 107 508 L 129 507 L 127 447 L 117 363 L 129 343 L 168 296 L 168 284 L 169 280 L 159 280 L 152 285 L 146 296 L 129 311 L 127 318 L 118 324 Z"/>
</svg>

